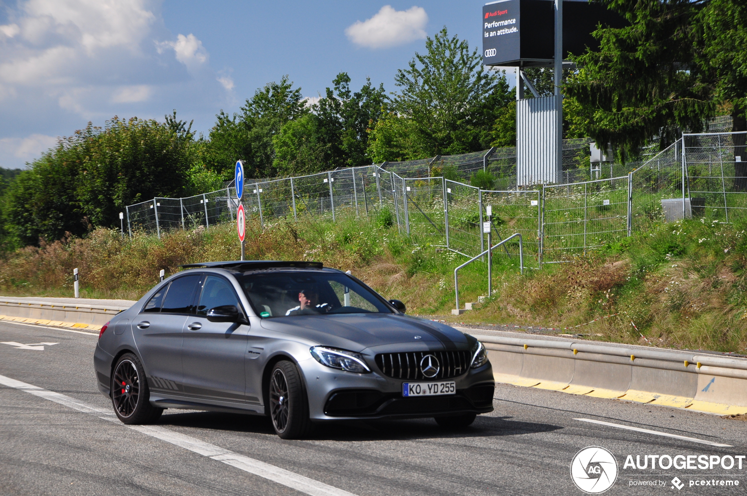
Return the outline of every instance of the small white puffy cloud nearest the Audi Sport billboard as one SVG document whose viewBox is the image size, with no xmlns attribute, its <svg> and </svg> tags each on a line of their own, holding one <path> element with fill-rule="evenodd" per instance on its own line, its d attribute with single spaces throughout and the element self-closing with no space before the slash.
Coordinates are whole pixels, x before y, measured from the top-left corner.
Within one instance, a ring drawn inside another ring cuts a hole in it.
<svg viewBox="0 0 747 496">
<path fill-rule="evenodd" d="M 345 34 L 356 45 L 385 49 L 424 39 L 427 23 L 428 14 L 423 7 L 394 10 L 391 5 L 384 5 L 371 19 L 348 26 Z"/>
</svg>

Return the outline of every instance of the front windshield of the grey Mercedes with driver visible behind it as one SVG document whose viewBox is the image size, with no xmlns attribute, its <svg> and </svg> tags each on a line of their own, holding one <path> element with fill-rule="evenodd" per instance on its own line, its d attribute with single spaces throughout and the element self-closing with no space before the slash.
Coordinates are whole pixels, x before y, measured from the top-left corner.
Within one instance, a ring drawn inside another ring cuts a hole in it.
<svg viewBox="0 0 747 496">
<path fill-rule="evenodd" d="M 261 317 L 392 313 L 371 290 L 341 273 L 273 271 L 238 281 Z"/>
</svg>

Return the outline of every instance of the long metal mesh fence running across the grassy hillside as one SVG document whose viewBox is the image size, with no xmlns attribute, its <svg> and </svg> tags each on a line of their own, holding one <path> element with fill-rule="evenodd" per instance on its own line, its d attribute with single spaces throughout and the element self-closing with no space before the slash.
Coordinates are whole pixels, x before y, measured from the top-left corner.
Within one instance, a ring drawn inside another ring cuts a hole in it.
<svg viewBox="0 0 747 496">
<path fill-rule="evenodd" d="M 565 261 L 613 243 L 651 223 L 691 216 L 729 222 L 747 214 L 746 139 L 747 133 L 684 134 L 634 164 L 632 172 L 625 172 L 630 165 L 603 164 L 602 177 L 596 179 L 595 171 L 577 167 L 565 178 L 574 182 L 536 190 L 515 189 L 515 150 L 491 149 L 267 179 L 245 185 L 243 201 L 247 215 L 263 226 L 280 218 L 335 221 L 341 215 L 388 210 L 414 244 L 446 247 L 468 257 L 486 248 L 482 223 L 491 205 L 494 235 L 504 239 L 521 232 L 525 259 L 540 267 L 543 261 Z M 589 140 L 566 142 L 569 163 L 589 163 Z M 481 190 L 444 179 L 447 167 L 462 176 L 486 168 L 501 187 L 513 187 Z M 514 176 L 509 176 L 511 167 Z M 209 228 L 235 220 L 237 207 L 230 186 L 187 198 L 154 198 L 126 208 L 127 229 L 160 236 L 170 229 Z"/>
</svg>

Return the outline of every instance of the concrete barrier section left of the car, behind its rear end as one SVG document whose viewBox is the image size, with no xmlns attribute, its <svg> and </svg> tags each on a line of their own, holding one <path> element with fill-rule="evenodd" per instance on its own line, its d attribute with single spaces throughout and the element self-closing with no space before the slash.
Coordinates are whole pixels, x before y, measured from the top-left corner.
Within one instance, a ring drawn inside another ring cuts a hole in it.
<svg viewBox="0 0 747 496">
<path fill-rule="evenodd" d="M 0 297 L 0 320 L 97 331 L 112 316 L 134 303 L 130 300 Z"/>
</svg>

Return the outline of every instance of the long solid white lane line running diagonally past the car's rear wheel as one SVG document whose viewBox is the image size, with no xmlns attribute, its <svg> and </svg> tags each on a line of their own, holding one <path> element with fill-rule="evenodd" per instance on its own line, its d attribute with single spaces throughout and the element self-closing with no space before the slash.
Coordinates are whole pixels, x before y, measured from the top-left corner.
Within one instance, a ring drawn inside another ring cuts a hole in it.
<svg viewBox="0 0 747 496">
<path fill-rule="evenodd" d="M 285 468 L 276 467 L 269 463 L 261 462 L 258 459 L 249 458 L 239 453 L 235 453 L 231 450 L 226 450 L 223 447 L 210 444 L 205 441 L 200 441 L 198 438 L 193 438 L 190 435 L 175 433 L 173 430 L 168 430 L 164 427 L 155 425 L 125 425 L 120 423 L 120 419 L 114 415 L 109 409 L 101 409 L 98 406 L 93 406 L 75 398 L 66 396 L 65 394 L 56 393 L 55 391 L 48 391 L 40 388 L 39 386 L 21 382 L 10 377 L 0 375 L 0 384 L 7 385 L 10 388 L 16 388 L 27 393 L 34 394 L 34 396 L 43 397 L 46 400 L 60 403 L 69 408 L 78 410 L 78 412 L 90 413 L 96 415 L 105 421 L 114 422 L 117 425 L 123 427 L 129 427 L 131 430 L 136 430 L 138 433 L 149 435 L 153 438 L 161 439 L 167 443 L 174 444 L 179 447 L 190 450 L 193 453 L 198 453 L 202 456 L 207 456 L 210 459 L 214 459 L 217 462 L 223 462 L 226 465 L 238 468 L 249 474 L 254 474 L 264 479 L 272 480 L 273 482 L 282 484 L 291 489 L 296 489 L 299 492 L 306 493 L 311 496 L 356 496 L 351 492 L 338 489 L 335 486 L 329 486 L 325 483 L 320 483 L 318 480 L 304 477 L 303 475 L 296 474 L 285 470 Z M 101 416 L 101 415 L 104 416 Z"/>
</svg>

